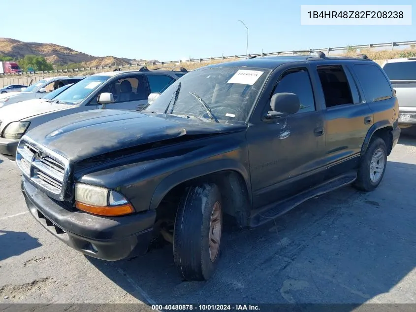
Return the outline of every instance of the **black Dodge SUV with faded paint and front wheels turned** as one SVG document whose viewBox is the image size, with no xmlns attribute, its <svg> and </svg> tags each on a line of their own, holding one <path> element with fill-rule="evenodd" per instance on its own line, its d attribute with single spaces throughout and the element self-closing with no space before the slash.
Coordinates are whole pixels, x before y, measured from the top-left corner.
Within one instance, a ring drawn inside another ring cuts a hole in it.
<svg viewBox="0 0 416 312">
<path fill-rule="evenodd" d="M 69 246 L 119 260 L 152 237 L 182 277 L 210 277 L 224 214 L 255 227 L 341 186 L 381 182 L 398 102 L 365 56 L 263 57 L 193 70 L 143 111 L 100 109 L 18 146 L 33 217 Z"/>
</svg>

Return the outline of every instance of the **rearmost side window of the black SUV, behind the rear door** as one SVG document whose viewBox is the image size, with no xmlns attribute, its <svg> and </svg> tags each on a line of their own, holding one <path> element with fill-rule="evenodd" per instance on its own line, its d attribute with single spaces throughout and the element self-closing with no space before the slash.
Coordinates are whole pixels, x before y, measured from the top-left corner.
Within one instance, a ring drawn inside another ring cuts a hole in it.
<svg viewBox="0 0 416 312">
<path fill-rule="evenodd" d="M 355 64 L 353 68 L 364 90 L 367 102 L 381 101 L 393 96 L 389 81 L 377 66 Z"/>
</svg>

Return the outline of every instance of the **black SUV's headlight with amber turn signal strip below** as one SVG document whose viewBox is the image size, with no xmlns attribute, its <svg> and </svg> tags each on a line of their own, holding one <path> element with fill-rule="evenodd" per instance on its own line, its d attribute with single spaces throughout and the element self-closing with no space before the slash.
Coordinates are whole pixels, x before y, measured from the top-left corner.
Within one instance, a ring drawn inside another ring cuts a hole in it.
<svg viewBox="0 0 416 312">
<path fill-rule="evenodd" d="M 134 212 L 133 207 L 122 194 L 84 183 L 75 184 L 75 206 L 86 212 L 106 216 Z"/>
</svg>

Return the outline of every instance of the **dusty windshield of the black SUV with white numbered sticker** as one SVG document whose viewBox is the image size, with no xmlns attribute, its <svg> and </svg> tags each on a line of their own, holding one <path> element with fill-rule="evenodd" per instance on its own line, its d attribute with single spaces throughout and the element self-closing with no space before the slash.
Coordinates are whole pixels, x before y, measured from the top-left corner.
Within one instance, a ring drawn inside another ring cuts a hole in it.
<svg viewBox="0 0 416 312">
<path fill-rule="evenodd" d="M 194 70 L 173 83 L 144 111 L 245 123 L 269 73 L 269 69 L 235 67 Z"/>
</svg>

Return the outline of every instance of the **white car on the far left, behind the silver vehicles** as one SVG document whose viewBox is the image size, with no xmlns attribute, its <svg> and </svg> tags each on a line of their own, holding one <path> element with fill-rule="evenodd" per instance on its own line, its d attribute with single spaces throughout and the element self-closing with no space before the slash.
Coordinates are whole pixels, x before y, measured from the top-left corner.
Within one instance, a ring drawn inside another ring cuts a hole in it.
<svg viewBox="0 0 416 312">
<path fill-rule="evenodd" d="M 0 94 L 0 107 L 30 99 L 40 99 L 49 92 L 52 92 L 66 84 L 75 83 L 84 78 L 85 76 L 44 78 L 22 90 L 22 92 Z"/>
</svg>

